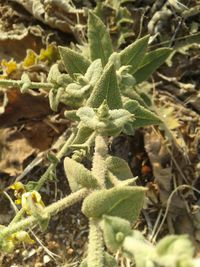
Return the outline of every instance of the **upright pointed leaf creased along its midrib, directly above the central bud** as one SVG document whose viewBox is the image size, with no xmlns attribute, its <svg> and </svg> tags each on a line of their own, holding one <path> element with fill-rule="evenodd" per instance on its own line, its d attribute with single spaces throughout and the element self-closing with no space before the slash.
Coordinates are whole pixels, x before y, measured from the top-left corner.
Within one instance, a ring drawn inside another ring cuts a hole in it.
<svg viewBox="0 0 200 267">
<path fill-rule="evenodd" d="M 108 65 L 103 71 L 87 101 L 87 106 L 98 108 L 104 100 L 107 100 L 109 109 L 122 107 L 120 90 L 118 88 L 116 71 L 113 64 Z"/>
</svg>

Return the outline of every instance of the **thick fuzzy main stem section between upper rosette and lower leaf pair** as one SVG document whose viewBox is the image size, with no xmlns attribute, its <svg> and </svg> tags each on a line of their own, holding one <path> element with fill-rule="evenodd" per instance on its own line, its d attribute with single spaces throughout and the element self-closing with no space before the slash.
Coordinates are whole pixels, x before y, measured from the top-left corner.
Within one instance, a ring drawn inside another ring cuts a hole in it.
<svg viewBox="0 0 200 267">
<path fill-rule="evenodd" d="M 105 159 L 107 153 L 108 146 L 105 137 L 97 135 L 95 139 L 92 174 L 96 177 L 101 188 L 105 188 L 105 176 L 107 171 Z"/>
</svg>

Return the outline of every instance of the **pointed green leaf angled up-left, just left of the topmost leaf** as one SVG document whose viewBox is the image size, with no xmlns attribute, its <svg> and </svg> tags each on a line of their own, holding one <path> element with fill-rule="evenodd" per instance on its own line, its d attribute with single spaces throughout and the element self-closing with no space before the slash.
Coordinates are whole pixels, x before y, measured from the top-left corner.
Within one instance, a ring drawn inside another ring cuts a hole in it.
<svg viewBox="0 0 200 267">
<path fill-rule="evenodd" d="M 59 46 L 59 53 L 66 71 L 73 78 L 75 73 L 85 74 L 90 61 L 84 58 L 80 53 L 75 52 L 67 47 Z"/>
</svg>

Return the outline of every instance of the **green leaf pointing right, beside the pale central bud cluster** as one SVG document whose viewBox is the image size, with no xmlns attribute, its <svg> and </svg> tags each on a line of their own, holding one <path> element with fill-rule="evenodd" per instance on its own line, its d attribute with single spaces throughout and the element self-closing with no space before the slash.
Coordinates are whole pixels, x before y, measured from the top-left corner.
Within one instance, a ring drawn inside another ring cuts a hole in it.
<svg viewBox="0 0 200 267">
<path fill-rule="evenodd" d="M 150 110 L 141 106 L 135 100 L 129 100 L 124 104 L 124 108 L 134 114 L 135 120 L 129 123 L 132 127 L 138 128 L 152 124 L 160 124 L 160 118 Z"/>
</svg>

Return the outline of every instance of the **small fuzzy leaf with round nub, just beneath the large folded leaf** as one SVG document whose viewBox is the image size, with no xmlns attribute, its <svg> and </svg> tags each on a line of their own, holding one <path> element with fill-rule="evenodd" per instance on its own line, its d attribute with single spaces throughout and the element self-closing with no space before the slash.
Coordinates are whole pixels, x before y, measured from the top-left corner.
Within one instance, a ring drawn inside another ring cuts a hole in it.
<svg viewBox="0 0 200 267">
<path fill-rule="evenodd" d="M 127 220 L 113 216 L 104 215 L 101 228 L 105 244 L 113 253 L 121 248 L 124 238 L 132 233 L 130 223 Z"/>
</svg>

